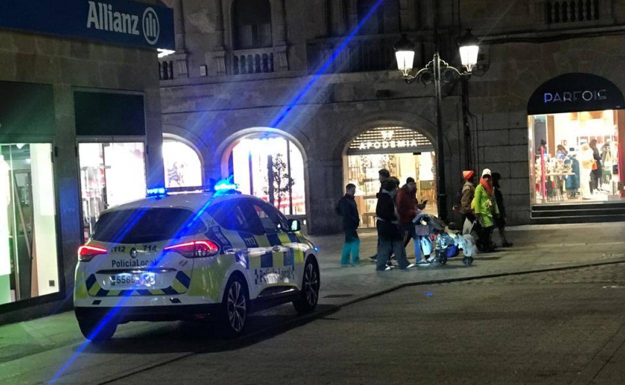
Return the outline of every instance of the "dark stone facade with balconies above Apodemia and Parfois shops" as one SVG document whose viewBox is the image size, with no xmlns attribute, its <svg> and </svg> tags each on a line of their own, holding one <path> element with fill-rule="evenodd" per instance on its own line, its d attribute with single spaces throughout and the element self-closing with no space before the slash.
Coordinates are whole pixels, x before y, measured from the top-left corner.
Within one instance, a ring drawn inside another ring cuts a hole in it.
<svg viewBox="0 0 625 385">
<path fill-rule="evenodd" d="M 450 206 L 470 161 L 476 170 L 501 173 L 507 222 L 531 223 L 536 181 L 528 102 L 534 91 L 571 73 L 625 87 L 619 69 L 625 4 L 616 0 L 168 3 L 177 47 L 161 59 L 164 133 L 196 145 L 206 180 L 227 177 L 232 147 L 246 135 L 291 140 L 302 152 L 314 233 L 339 230 L 333 207 L 347 182 L 347 147 L 376 127 L 416 130 L 434 149 L 437 140 L 444 142 Z M 264 16 L 246 17 L 247 11 Z M 465 28 L 481 39 L 467 83 L 468 109 L 461 82 L 446 84 L 444 135 L 437 138 L 433 87 L 404 83 L 392 45 L 407 33 L 421 67 L 434 53 L 436 34 L 441 57 L 459 67 L 456 39 Z"/>
</svg>

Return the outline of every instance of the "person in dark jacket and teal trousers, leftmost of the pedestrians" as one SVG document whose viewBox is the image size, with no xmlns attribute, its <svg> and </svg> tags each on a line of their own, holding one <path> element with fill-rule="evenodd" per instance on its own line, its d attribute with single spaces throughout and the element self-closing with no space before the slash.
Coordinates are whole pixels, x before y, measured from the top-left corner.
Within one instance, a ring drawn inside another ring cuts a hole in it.
<svg viewBox="0 0 625 385">
<path fill-rule="evenodd" d="M 353 266 L 360 264 L 360 238 L 356 229 L 360 225 L 360 217 L 358 215 L 358 207 L 356 200 L 356 185 L 349 183 L 345 187 L 345 195 L 339 200 L 337 213 L 343 217 L 343 231 L 345 231 L 345 243 L 341 251 L 341 266 L 349 266 L 349 256 L 351 255 L 351 264 Z"/>
</svg>

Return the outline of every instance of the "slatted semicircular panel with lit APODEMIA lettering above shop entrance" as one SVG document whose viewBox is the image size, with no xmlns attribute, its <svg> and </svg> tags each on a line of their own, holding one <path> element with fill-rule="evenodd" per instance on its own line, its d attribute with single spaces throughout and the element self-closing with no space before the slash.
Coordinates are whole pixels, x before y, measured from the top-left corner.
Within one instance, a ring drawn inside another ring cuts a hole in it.
<svg viewBox="0 0 625 385">
<path fill-rule="evenodd" d="M 406 127 L 378 127 L 358 135 L 349 144 L 347 155 L 426 151 L 433 151 L 432 143 L 419 132 Z"/>
</svg>

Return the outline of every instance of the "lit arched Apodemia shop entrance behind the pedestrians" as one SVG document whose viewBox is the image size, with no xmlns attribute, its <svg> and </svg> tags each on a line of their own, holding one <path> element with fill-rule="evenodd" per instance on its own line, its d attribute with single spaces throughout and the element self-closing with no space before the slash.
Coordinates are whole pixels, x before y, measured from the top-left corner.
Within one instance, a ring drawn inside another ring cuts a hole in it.
<svg viewBox="0 0 625 385">
<path fill-rule="evenodd" d="M 436 214 L 436 154 L 425 135 L 407 127 L 380 126 L 358 135 L 344 157 L 344 184 L 356 185 L 361 227 L 375 227 L 377 172 L 386 168 L 401 185 L 417 181 L 417 199 L 427 200 L 426 211 Z"/>
</svg>

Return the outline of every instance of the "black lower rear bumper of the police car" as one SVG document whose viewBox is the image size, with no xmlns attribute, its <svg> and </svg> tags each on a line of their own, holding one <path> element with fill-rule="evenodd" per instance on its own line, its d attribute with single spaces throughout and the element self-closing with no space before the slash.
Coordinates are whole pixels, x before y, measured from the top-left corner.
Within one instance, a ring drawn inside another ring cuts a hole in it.
<svg viewBox="0 0 625 385">
<path fill-rule="evenodd" d="M 221 304 L 174 306 L 74 307 L 76 318 L 111 318 L 116 323 L 128 321 L 197 321 L 215 318 Z"/>
</svg>

